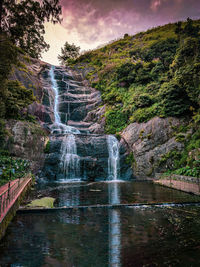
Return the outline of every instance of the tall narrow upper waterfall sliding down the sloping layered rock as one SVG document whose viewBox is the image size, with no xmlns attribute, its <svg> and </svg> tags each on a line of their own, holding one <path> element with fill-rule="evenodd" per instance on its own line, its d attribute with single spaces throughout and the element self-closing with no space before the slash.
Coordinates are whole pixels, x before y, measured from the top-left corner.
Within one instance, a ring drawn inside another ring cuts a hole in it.
<svg viewBox="0 0 200 267">
<path fill-rule="evenodd" d="M 51 126 L 51 133 L 73 133 L 73 134 L 80 134 L 80 131 L 76 129 L 75 127 L 65 125 L 64 123 L 61 122 L 60 114 L 59 114 L 59 90 L 58 90 L 58 85 L 55 79 L 55 74 L 54 74 L 55 67 L 52 66 L 49 72 L 49 75 L 51 77 L 51 84 L 52 84 L 52 89 L 54 91 L 54 124 Z M 69 84 L 67 84 L 67 93 L 69 90 Z M 68 103 L 68 112 L 67 115 L 69 117 L 69 103 Z"/>
</svg>

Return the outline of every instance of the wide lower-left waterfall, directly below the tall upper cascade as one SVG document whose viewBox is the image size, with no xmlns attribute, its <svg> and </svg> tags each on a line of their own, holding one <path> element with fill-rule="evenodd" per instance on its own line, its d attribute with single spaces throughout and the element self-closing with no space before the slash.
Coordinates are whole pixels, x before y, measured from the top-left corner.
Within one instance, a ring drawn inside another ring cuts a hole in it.
<svg viewBox="0 0 200 267">
<path fill-rule="evenodd" d="M 63 138 L 60 169 L 65 179 L 80 178 L 80 157 L 77 155 L 76 141 L 73 134 Z"/>
</svg>

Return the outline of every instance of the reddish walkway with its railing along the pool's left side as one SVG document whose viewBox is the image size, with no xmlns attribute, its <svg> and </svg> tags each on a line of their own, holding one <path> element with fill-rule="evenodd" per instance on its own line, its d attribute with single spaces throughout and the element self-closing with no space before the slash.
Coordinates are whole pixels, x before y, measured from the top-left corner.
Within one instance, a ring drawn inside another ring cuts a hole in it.
<svg viewBox="0 0 200 267">
<path fill-rule="evenodd" d="M 0 187 L 0 223 L 31 181 L 31 178 L 21 178 Z"/>
</svg>

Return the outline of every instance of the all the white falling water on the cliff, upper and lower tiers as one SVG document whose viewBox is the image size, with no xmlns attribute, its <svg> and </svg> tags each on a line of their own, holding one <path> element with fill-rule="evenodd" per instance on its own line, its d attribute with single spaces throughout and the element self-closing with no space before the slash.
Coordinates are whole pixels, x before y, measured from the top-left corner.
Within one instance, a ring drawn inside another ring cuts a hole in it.
<svg viewBox="0 0 200 267">
<path fill-rule="evenodd" d="M 81 134 L 81 132 L 77 129 L 76 126 L 69 126 L 61 122 L 60 116 L 60 98 L 64 99 L 70 96 L 70 84 L 73 85 L 73 99 L 76 99 L 76 93 L 80 90 L 78 84 L 72 81 L 68 81 L 64 79 L 64 74 L 62 76 L 61 82 L 65 84 L 64 89 L 64 96 L 59 95 L 59 86 L 55 78 L 55 67 L 52 66 L 49 71 L 49 76 L 51 79 L 52 90 L 54 92 L 54 123 L 51 125 L 52 134 L 63 134 L 64 137 L 62 139 L 61 148 L 60 148 L 60 173 L 63 174 L 63 181 L 72 181 L 80 179 L 80 156 L 77 153 L 77 145 L 76 145 L 76 138 L 75 134 Z M 86 87 L 83 87 L 83 95 L 81 95 L 82 100 L 87 102 L 86 95 Z M 77 94 L 77 96 L 80 96 Z M 71 96 L 70 96 L 71 97 Z M 77 98 L 78 99 L 78 98 Z M 65 101 L 66 108 L 65 108 L 65 123 L 68 123 L 70 120 L 70 101 L 69 99 Z M 63 109 L 62 109 L 63 113 Z M 81 123 L 73 122 L 74 125 L 80 126 Z M 82 125 L 84 125 L 82 123 Z M 86 130 L 83 134 L 90 135 L 88 130 Z M 120 177 L 120 155 L 119 155 L 119 142 L 113 135 L 105 136 L 107 140 L 107 150 L 108 150 L 108 180 L 118 180 Z M 87 154 L 84 156 L 88 156 Z M 97 160 L 99 160 L 97 158 Z M 84 162 L 85 163 L 85 162 Z M 83 164 L 84 165 L 84 164 Z M 86 173 L 86 170 L 83 170 L 82 173 Z"/>
</svg>

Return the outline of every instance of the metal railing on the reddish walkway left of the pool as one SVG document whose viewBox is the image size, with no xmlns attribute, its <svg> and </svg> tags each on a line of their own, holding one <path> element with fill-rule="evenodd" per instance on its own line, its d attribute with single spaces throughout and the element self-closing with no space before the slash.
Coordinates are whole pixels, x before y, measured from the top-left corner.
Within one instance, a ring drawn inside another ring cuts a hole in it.
<svg viewBox="0 0 200 267">
<path fill-rule="evenodd" d="M 8 210 L 10 203 L 16 198 L 26 181 L 26 178 L 21 178 L 15 182 L 9 182 L 7 189 L 0 194 L 0 222 L 2 219 L 1 217 Z"/>
</svg>

